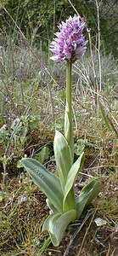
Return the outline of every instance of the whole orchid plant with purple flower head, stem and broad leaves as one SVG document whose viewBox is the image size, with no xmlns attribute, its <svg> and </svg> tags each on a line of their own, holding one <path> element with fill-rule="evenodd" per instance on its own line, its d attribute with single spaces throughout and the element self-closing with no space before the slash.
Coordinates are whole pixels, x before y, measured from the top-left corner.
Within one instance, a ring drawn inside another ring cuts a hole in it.
<svg viewBox="0 0 118 256">
<path fill-rule="evenodd" d="M 54 246 L 59 246 L 64 232 L 70 222 L 81 217 L 81 213 L 98 195 L 100 183 L 93 179 L 81 189 L 76 196 L 74 183 L 84 162 L 84 153 L 74 162 L 74 139 L 71 108 L 71 71 L 72 64 L 85 53 L 87 41 L 83 36 L 85 22 L 78 16 L 70 16 L 59 25 L 59 32 L 50 45 L 53 52 L 51 59 L 58 64 L 66 61 L 66 105 L 65 105 L 65 135 L 55 131 L 53 141 L 54 156 L 59 177 L 48 172 L 37 160 L 25 158 L 21 160 L 25 170 L 34 183 L 47 196 L 51 214 L 44 221 L 42 230 L 48 230 Z"/>
</svg>

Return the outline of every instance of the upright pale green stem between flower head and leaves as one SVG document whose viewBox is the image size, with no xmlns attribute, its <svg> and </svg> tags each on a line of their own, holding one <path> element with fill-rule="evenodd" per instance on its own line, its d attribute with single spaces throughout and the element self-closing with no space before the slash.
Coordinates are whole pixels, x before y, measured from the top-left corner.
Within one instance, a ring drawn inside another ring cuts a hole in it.
<svg viewBox="0 0 118 256">
<path fill-rule="evenodd" d="M 72 129 L 72 108 L 71 108 L 71 70 L 72 62 L 67 61 L 66 67 L 66 106 L 65 106 L 65 138 L 70 146 L 72 160 L 74 157 L 74 141 Z"/>
</svg>

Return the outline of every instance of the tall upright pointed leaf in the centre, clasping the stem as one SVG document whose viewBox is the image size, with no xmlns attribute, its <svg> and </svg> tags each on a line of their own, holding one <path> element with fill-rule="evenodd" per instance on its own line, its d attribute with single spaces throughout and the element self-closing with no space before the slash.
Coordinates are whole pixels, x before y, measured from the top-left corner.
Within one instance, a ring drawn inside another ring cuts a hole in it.
<svg viewBox="0 0 118 256">
<path fill-rule="evenodd" d="M 70 167 L 72 166 L 72 158 L 70 147 L 65 137 L 59 131 L 55 132 L 53 149 L 56 164 L 58 167 L 60 183 L 62 186 L 62 190 L 64 191 L 66 178 L 68 176 L 68 172 L 70 171 Z"/>
</svg>

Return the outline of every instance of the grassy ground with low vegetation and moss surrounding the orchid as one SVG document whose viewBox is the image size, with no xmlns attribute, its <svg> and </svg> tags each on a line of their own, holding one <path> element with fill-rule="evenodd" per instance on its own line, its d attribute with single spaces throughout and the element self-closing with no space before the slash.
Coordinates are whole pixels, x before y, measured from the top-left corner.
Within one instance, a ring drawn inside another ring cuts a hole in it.
<svg viewBox="0 0 118 256">
<path fill-rule="evenodd" d="M 55 128 L 64 132 L 65 64 L 27 39 L 11 36 L 0 47 L 0 254 L 2 256 L 118 255 L 118 79 L 112 54 L 89 50 L 73 65 L 74 159 L 85 152 L 75 190 L 93 177 L 102 186 L 81 218 L 70 223 L 59 247 L 53 247 L 42 224 L 46 197 L 20 164 L 39 160 L 57 174 L 53 157 Z M 101 76 L 102 90 L 99 90 Z"/>
</svg>

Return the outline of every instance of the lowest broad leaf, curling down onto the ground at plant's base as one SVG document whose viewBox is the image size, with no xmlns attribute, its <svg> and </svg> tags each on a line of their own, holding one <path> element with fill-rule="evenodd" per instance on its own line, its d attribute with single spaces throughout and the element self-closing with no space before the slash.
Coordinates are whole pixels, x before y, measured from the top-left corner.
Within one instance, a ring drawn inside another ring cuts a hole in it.
<svg viewBox="0 0 118 256">
<path fill-rule="evenodd" d="M 53 246 L 57 247 L 64 236 L 68 224 L 75 219 L 76 210 L 70 210 L 64 214 L 54 213 L 45 220 L 42 231 L 48 230 Z"/>
</svg>

